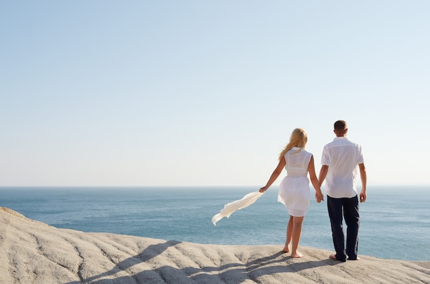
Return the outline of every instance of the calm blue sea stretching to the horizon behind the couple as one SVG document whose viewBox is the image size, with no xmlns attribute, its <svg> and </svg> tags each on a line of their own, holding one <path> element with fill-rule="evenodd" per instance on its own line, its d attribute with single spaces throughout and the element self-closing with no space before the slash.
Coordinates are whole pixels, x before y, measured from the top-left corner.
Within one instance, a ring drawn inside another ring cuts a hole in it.
<svg viewBox="0 0 430 284">
<path fill-rule="evenodd" d="M 278 187 L 212 224 L 225 204 L 253 191 L 258 187 L 0 187 L 0 206 L 56 228 L 282 248 L 288 213 L 277 202 Z M 359 255 L 430 261 L 430 187 L 368 187 L 360 215 Z M 333 250 L 326 201 L 311 199 L 299 245 Z"/>
</svg>

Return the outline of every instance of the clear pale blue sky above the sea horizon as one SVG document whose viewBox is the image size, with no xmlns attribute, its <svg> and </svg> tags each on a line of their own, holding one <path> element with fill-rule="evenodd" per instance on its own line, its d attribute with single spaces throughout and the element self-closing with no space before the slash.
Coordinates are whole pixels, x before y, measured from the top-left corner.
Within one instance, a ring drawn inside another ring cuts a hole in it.
<svg viewBox="0 0 430 284">
<path fill-rule="evenodd" d="M 429 185 L 430 1 L 1 1 L 0 186 L 256 185 L 345 119 Z M 275 184 L 279 184 L 282 177 Z"/>
</svg>

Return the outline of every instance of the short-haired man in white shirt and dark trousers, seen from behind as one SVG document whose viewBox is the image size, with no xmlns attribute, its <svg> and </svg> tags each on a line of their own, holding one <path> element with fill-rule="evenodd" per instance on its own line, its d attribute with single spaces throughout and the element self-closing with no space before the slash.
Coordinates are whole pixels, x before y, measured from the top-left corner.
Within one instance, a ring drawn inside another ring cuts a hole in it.
<svg viewBox="0 0 430 284">
<path fill-rule="evenodd" d="M 348 138 L 345 121 L 335 122 L 336 137 L 324 146 L 319 171 L 319 185 L 326 180 L 328 216 L 332 226 L 333 244 L 336 254 L 331 259 L 338 261 L 357 260 L 359 244 L 359 198 L 356 189 L 357 165 L 360 170 L 360 202 L 366 200 L 367 175 L 361 146 Z M 347 226 L 346 247 L 343 235 L 343 217 Z"/>
</svg>

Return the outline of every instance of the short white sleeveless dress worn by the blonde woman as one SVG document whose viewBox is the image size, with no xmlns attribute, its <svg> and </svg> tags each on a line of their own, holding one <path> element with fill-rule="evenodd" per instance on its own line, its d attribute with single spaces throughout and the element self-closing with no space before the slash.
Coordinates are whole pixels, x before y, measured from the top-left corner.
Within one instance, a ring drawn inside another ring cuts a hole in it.
<svg viewBox="0 0 430 284">
<path fill-rule="evenodd" d="M 284 204 L 292 216 L 302 217 L 309 208 L 308 165 L 311 156 L 299 147 L 293 147 L 284 155 L 286 177 L 279 187 L 278 202 Z"/>
</svg>

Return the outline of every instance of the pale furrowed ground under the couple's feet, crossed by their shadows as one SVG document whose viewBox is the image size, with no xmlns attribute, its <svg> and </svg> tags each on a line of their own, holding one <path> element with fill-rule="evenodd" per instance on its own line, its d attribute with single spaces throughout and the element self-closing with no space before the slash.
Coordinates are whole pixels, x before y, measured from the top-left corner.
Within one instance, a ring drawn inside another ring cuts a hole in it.
<svg viewBox="0 0 430 284">
<path fill-rule="evenodd" d="M 301 247 L 304 257 L 291 259 L 280 249 L 82 233 L 0 207 L 1 284 L 430 283 L 430 261 L 341 263 L 329 250 Z"/>
</svg>

